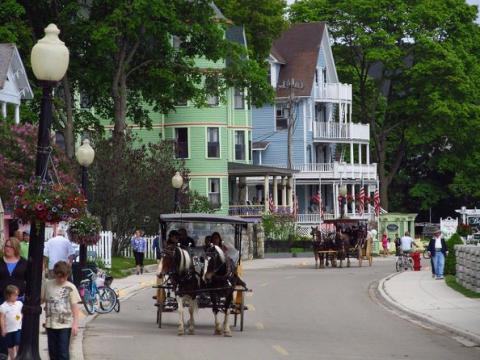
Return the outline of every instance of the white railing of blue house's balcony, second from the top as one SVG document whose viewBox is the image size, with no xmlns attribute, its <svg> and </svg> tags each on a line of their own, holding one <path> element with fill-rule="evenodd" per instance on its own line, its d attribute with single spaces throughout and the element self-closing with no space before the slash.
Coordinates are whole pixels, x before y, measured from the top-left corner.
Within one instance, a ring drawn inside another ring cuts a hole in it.
<svg viewBox="0 0 480 360">
<path fill-rule="evenodd" d="M 338 123 L 333 121 L 313 122 L 314 140 L 370 140 L 370 125 Z"/>
</svg>

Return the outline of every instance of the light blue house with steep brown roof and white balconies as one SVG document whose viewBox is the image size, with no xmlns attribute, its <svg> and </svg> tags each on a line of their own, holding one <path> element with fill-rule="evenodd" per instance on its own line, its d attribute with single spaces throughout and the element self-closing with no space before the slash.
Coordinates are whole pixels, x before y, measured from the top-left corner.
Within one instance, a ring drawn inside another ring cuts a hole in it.
<svg viewBox="0 0 480 360">
<path fill-rule="evenodd" d="M 292 192 L 300 224 L 320 221 L 320 196 L 324 218 L 369 218 L 378 183 L 377 166 L 370 163 L 370 129 L 352 122 L 352 86 L 338 79 L 327 24 L 293 25 L 274 42 L 268 62 L 276 99 L 253 109 L 253 162 L 287 167 L 290 123 L 291 167 L 298 172 L 293 184 L 271 177 L 267 191 L 261 179 L 249 179 L 249 198 L 272 194 L 278 211 L 290 203 L 284 194 Z"/>
</svg>

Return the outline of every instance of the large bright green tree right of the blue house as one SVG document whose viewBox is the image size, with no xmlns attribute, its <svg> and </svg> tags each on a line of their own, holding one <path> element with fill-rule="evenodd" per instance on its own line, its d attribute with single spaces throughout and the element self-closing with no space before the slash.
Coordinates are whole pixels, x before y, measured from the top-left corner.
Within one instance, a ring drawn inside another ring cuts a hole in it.
<svg viewBox="0 0 480 360">
<path fill-rule="evenodd" d="M 407 159 L 417 165 L 409 177 L 437 154 L 454 156 L 463 135 L 452 129 L 477 128 L 478 25 L 464 0 L 300 0 L 290 15 L 329 23 L 340 77 L 353 84 L 354 118 L 370 124 L 382 206 Z"/>
</svg>

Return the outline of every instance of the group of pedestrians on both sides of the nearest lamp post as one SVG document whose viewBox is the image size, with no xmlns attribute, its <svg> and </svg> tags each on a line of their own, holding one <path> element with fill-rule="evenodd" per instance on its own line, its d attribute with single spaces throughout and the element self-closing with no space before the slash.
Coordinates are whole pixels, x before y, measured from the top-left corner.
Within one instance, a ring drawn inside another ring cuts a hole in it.
<svg viewBox="0 0 480 360">
<path fill-rule="evenodd" d="M 25 300 L 29 231 L 16 231 L 3 245 L 0 258 L 0 354 L 15 359 L 21 341 L 22 308 Z M 70 337 L 77 335 L 80 295 L 68 281 L 75 249 L 64 230 L 45 243 L 45 279 L 41 302 L 51 360 L 70 358 Z"/>
</svg>

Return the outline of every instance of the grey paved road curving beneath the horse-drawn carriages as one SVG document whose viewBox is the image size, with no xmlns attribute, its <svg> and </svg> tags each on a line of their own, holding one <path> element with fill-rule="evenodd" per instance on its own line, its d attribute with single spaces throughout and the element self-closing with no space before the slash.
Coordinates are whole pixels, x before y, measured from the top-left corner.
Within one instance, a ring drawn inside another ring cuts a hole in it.
<svg viewBox="0 0 480 360">
<path fill-rule="evenodd" d="M 401 319 L 380 306 L 370 284 L 393 262 L 373 267 L 315 270 L 307 267 L 248 271 L 244 332 L 213 335 L 213 315 L 200 310 L 196 335 L 176 335 L 176 314 L 158 329 L 152 290 L 122 304 L 120 314 L 88 325 L 84 351 L 93 359 L 479 359 L 469 348 L 434 330 Z M 369 291 L 370 290 L 370 291 Z"/>
</svg>

